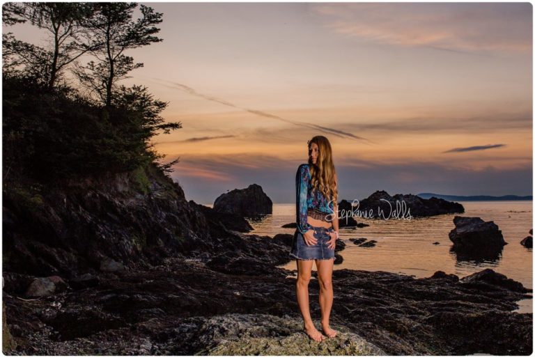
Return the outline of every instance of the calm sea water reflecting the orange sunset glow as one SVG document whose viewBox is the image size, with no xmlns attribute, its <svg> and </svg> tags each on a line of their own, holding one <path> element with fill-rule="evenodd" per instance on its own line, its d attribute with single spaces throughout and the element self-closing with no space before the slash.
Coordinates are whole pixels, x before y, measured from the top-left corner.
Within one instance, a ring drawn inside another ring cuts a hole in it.
<svg viewBox="0 0 535 358">
<path fill-rule="evenodd" d="M 346 242 L 346 249 L 339 252 L 343 263 L 334 265 L 334 270 L 353 269 L 369 271 L 387 271 L 410 274 L 414 277 L 430 277 L 438 270 L 447 274 L 464 277 L 468 274 L 491 268 L 510 279 L 520 281 L 525 287 L 533 288 L 532 249 L 526 249 L 520 240 L 529 235 L 533 227 L 532 201 L 463 201 L 465 217 L 481 217 L 485 221 L 494 221 L 504 235 L 506 244 L 497 260 L 482 262 L 458 260 L 456 254 L 450 253 L 452 246 L 448 233 L 455 226 L 455 215 L 438 215 L 411 220 L 403 219 L 362 219 L 370 226 L 364 228 L 341 228 L 341 239 Z M 387 215 L 388 213 L 386 213 Z M 273 236 L 277 233 L 293 234 L 295 228 L 281 228 L 282 225 L 295 221 L 295 204 L 274 204 L 273 215 L 268 215 L 260 222 L 250 221 L 257 235 Z M 367 238 L 375 240 L 375 247 L 357 247 L 349 238 Z M 433 244 L 439 242 L 440 244 Z M 288 270 L 295 270 L 295 260 L 282 265 Z M 313 267 L 316 270 L 316 267 Z M 521 312 L 533 311 L 533 300 L 518 302 Z"/>
</svg>

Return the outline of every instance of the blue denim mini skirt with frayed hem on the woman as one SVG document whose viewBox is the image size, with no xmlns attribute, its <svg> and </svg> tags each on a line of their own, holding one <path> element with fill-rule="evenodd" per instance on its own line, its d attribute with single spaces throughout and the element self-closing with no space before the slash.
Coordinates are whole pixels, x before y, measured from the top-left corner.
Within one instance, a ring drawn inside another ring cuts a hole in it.
<svg viewBox="0 0 535 358">
<path fill-rule="evenodd" d="M 298 260 L 329 260 L 334 258 L 334 249 L 329 249 L 327 244 L 327 241 L 331 238 L 329 233 L 334 231 L 332 226 L 330 228 L 312 226 L 311 230 L 314 231 L 314 238 L 318 242 L 315 245 L 307 245 L 307 242 L 304 242 L 302 233 L 296 229 L 293 234 L 290 256 Z"/>
</svg>

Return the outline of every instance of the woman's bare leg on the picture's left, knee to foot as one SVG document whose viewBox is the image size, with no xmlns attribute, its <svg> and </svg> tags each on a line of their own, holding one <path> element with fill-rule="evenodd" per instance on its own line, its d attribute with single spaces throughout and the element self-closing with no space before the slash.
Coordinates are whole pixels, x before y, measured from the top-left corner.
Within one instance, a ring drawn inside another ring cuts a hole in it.
<svg viewBox="0 0 535 358">
<path fill-rule="evenodd" d="M 299 309 L 301 315 L 303 316 L 303 329 L 304 332 L 312 338 L 314 341 L 322 341 L 323 338 L 326 338 L 321 334 L 310 316 L 309 309 L 309 282 L 312 273 L 312 263 L 313 260 L 297 260 L 297 281 L 295 283 L 295 293 L 297 295 L 297 304 L 299 304 Z"/>
</svg>

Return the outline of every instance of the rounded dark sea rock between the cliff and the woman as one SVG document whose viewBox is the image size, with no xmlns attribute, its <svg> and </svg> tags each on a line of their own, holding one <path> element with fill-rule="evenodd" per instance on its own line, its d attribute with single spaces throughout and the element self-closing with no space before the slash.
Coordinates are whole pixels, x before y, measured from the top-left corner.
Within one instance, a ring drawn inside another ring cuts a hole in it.
<svg viewBox="0 0 535 358">
<path fill-rule="evenodd" d="M 240 217 L 272 214 L 273 203 L 260 185 L 251 184 L 245 189 L 234 189 L 215 199 L 214 210 Z"/>
</svg>

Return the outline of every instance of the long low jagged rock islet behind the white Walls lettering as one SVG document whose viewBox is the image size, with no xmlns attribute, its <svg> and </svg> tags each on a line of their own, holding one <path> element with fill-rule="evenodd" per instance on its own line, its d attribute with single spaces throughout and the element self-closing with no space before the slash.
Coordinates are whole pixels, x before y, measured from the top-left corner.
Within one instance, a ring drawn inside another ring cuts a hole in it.
<svg viewBox="0 0 535 358">
<path fill-rule="evenodd" d="M 357 201 L 355 201 L 355 206 Z M 396 194 L 390 196 L 384 190 L 378 190 L 368 198 L 358 202 L 362 217 L 401 219 L 402 217 L 429 217 L 433 215 L 465 212 L 460 203 L 437 199 L 422 199 L 412 194 Z"/>
</svg>

